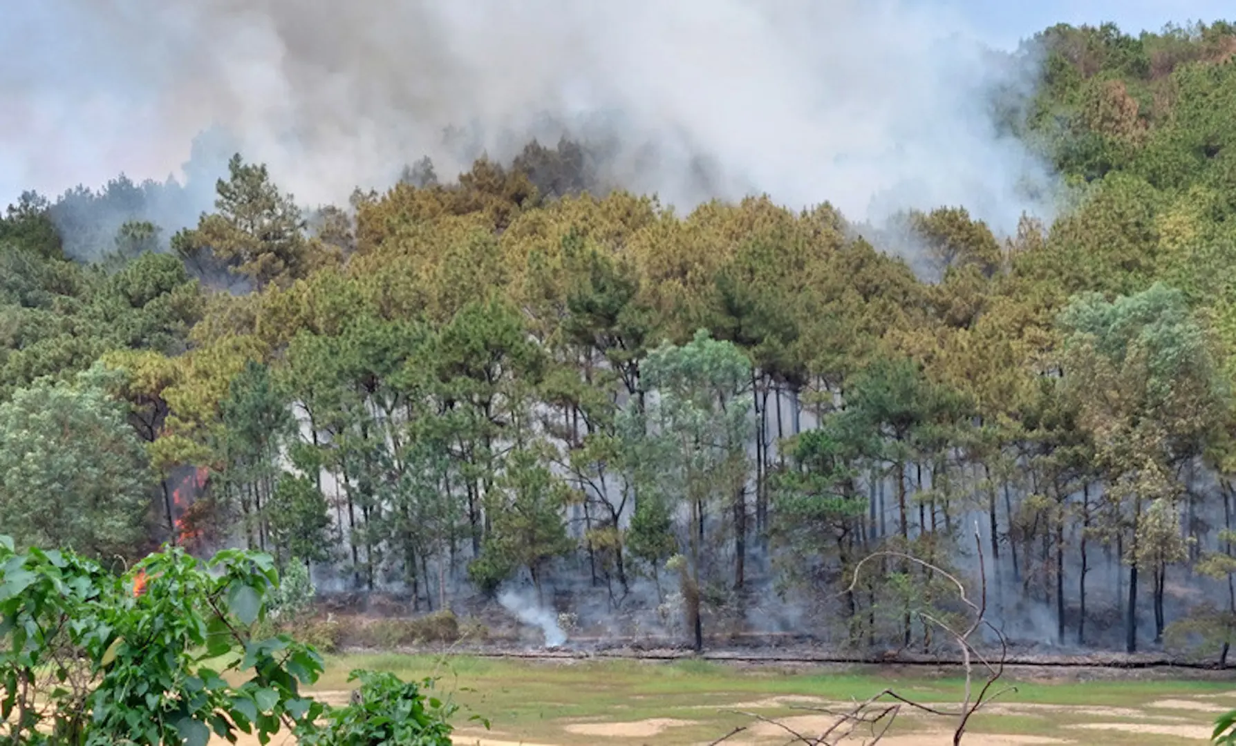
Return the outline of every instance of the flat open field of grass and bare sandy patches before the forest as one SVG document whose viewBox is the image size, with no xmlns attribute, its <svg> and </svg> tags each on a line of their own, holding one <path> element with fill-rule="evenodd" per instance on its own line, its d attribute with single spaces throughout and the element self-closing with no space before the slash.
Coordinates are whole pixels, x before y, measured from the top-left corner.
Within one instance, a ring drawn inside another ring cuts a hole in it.
<svg viewBox="0 0 1236 746">
<path fill-rule="evenodd" d="M 885 688 L 920 703 L 955 708 L 964 685 L 955 671 L 373 653 L 329 657 L 314 693 L 331 704 L 346 704 L 347 673 L 355 668 L 393 671 L 404 679 L 438 677 L 436 695 L 464 705 L 455 719 L 456 744 L 466 746 L 705 745 L 738 726 L 747 730 L 726 744 L 785 744 L 787 732 L 755 715 L 818 732 L 832 718 L 803 708 L 845 706 Z M 1236 681 L 1208 678 L 1173 678 L 1163 671 L 1060 677 L 1018 668 L 1002 682 L 1016 690 L 975 715 L 962 744 L 1196 746 L 1209 742 L 1220 713 L 1236 708 Z M 468 723 L 472 714 L 487 718 L 491 730 Z M 953 723 L 904 709 L 880 744 L 947 745 Z M 845 742 L 863 744 L 859 736 Z M 273 741 L 281 742 L 282 737 Z"/>
</svg>

